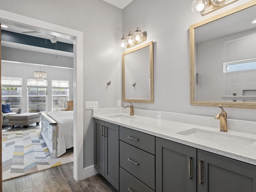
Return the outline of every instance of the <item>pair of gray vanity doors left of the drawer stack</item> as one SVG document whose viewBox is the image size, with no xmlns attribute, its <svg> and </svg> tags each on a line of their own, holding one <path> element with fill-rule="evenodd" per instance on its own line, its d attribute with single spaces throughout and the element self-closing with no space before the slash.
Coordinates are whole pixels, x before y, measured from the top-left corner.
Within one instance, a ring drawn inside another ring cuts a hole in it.
<svg viewBox="0 0 256 192">
<path fill-rule="evenodd" d="M 98 119 L 94 123 L 94 167 L 119 190 L 119 126 Z"/>
</svg>

